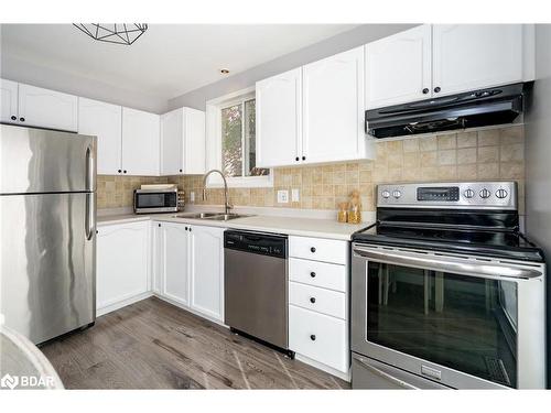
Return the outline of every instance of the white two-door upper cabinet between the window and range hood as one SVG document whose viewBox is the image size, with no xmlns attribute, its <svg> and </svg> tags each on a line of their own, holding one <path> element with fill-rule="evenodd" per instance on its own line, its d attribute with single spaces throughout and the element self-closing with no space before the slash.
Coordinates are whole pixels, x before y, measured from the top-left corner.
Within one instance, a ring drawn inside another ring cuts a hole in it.
<svg viewBox="0 0 551 413">
<path fill-rule="evenodd" d="M 372 157 L 364 132 L 364 47 L 257 83 L 257 166 Z"/>
</svg>

